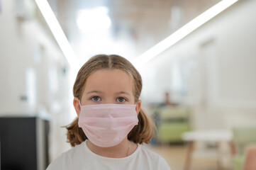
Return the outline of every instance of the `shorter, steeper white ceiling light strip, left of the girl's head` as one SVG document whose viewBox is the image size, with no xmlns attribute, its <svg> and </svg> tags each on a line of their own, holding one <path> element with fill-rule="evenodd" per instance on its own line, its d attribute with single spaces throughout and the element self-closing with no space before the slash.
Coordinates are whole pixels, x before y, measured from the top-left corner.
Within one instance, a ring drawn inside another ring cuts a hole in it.
<svg viewBox="0 0 256 170">
<path fill-rule="evenodd" d="M 65 33 L 63 32 L 60 23 L 57 21 L 55 14 L 50 8 L 47 0 L 35 0 L 35 3 L 38 5 L 43 17 L 45 18 L 46 23 L 48 24 L 50 30 L 52 31 L 53 36 L 55 37 L 60 49 L 65 55 L 67 62 L 69 62 L 71 67 L 77 68 L 79 62 L 77 56 L 74 53 L 71 45 L 69 44 Z"/>
</svg>

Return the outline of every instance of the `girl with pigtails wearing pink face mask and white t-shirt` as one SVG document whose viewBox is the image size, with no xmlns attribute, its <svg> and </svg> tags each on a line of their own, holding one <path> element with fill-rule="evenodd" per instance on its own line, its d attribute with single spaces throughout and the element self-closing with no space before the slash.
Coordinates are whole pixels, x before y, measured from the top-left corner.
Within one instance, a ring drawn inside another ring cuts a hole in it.
<svg viewBox="0 0 256 170">
<path fill-rule="evenodd" d="M 140 144 L 149 143 L 154 126 L 140 109 L 142 80 L 128 60 L 96 55 L 74 82 L 78 118 L 67 126 L 72 149 L 47 170 L 169 169 L 165 159 Z"/>
</svg>

